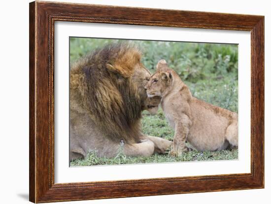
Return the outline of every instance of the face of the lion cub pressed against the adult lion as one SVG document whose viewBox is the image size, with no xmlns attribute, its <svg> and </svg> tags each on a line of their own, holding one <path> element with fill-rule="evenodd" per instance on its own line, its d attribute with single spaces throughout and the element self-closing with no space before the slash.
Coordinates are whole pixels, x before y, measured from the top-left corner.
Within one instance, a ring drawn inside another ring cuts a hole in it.
<svg viewBox="0 0 271 204">
<path fill-rule="evenodd" d="M 167 87 L 170 86 L 172 75 L 169 72 L 157 71 L 145 86 L 149 98 L 162 97 Z"/>
</svg>

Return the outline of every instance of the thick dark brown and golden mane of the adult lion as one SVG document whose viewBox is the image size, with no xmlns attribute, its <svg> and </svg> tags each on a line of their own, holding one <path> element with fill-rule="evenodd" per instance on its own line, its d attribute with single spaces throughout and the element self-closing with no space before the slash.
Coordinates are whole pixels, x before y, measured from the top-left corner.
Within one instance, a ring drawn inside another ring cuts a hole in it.
<svg viewBox="0 0 271 204">
<path fill-rule="evenodd" d="M 108 44 L 81 58 L 70 72 L 77 102 L 113 141 L 138 142 L 142 102 L 131 81 L 140 52 L 129 43 Z M 108 69 L 108 64 L 114 68 Z"/>
</svg>

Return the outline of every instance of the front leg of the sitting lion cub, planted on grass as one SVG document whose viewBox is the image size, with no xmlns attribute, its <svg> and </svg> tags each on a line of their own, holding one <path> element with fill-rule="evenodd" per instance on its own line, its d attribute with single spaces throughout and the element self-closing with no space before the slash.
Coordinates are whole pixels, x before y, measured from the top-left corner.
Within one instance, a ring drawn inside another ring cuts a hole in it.
<svg viewBox="0 0 271 204">
<path fill-rule="evenodd" d="M 173 138 L 173 148 L 170 151 L 171 156 L 181 155 L 183 152 L 189 151 L 185 145 L 191 121 L 187 115 L 182 115 L 175 121 L 175 134 Z"/>
</svg>

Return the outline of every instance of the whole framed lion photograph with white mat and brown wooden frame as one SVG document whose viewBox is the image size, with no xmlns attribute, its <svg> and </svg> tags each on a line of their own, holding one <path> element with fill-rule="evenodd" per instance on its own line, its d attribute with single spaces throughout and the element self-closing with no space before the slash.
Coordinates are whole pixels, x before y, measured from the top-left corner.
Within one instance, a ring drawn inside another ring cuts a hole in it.
<svg viewBox="0 0 271 204">
<path fill-rule="evenodd" d="M 264 16 L 30 3 L 30 201 L 264 188 Z"/>
</svg>

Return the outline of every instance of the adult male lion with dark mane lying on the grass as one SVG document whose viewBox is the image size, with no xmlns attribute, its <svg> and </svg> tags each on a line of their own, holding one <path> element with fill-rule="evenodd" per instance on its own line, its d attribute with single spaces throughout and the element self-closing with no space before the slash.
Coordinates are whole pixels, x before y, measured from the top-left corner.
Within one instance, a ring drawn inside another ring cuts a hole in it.
<svg viewBox="0 0 271 204">
<path fill-rule="evenodd" d="M 141 111 L 160 102 L 147 99 L 144 86 L 150 73 L 140 58 L 134 45 L 110 44 L 71 67 L 70 160 L 85 157 L 90 150 L 113 157 L 121 141 L 128 156 L 150 156 L 171 145 L 140 131 Z"/>
</svg>

